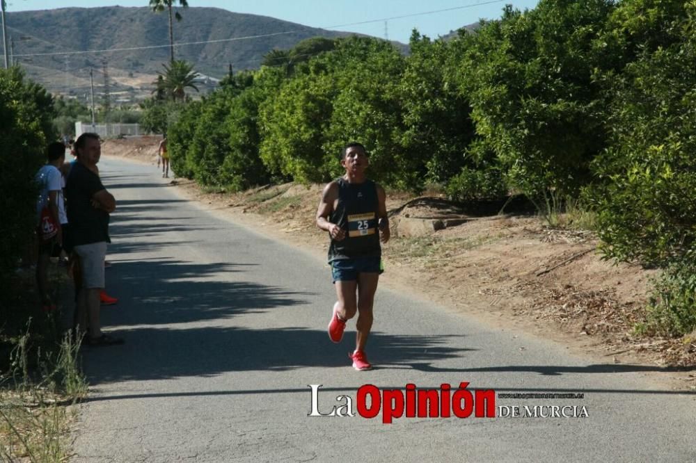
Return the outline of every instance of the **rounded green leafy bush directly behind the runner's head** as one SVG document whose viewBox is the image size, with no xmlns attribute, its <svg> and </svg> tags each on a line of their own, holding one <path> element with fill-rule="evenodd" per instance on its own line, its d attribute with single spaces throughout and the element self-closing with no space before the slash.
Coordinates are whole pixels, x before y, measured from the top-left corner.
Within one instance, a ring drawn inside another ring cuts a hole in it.
<svg viewBox="0 0 696 463">
<path fill-rule="evenodd" d="M 397 156 L 403 67 L 390 44 L 370 38 L 337 40 L 333 50 L 296 66 L 260 108 L 260 156 L 269 171 L 328 181 L 340 173 L 341 148 L 360 141 L 370 150 L 372 177 L 402 181 L 400 174 L 410 174 L 400 169 L 408 159 Z"/>
</svg>

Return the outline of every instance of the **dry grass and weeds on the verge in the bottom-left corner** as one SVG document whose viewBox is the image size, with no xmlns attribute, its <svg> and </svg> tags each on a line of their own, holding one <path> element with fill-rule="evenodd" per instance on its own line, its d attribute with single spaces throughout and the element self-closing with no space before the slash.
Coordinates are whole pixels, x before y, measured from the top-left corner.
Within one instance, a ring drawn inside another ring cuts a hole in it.
<svg viewBox="0 0 696 463">
<path fill-rule="evenodd" d="M 65 287 L 61 270 L 49 274 L 54 287 Z M 33 285 L 27 284 L 25 291 L 33 291 Z M 31 293 L 23 300 L 28 307 L 15 311 L 17 320 L 5 325 L 24 323 L 23 334 L 2 336 L 14 347 L 0 375 L 0 461 L 65 462 L 72 446 L 71 405 L 87 391 L 79 343 L 69 334 L 61 338 L 58 314 L 32 312 Z"/>
</svg>

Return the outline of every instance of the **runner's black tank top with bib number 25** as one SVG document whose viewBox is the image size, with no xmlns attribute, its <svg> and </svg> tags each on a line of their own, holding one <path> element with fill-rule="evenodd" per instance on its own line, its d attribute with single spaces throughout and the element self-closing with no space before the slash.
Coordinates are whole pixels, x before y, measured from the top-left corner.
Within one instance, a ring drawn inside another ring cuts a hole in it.
<svg viewBox="0 0 696 463">
<path fill-rule="evenodd" d="M 342 241 L 331 239 L 329 262 L 354 257 L 381 257 L 377 213 L 377 186 L 372 180 L 350 184 L 337 179 L 338 204 L 329 221 L 346 232 Z"/>
</svg>

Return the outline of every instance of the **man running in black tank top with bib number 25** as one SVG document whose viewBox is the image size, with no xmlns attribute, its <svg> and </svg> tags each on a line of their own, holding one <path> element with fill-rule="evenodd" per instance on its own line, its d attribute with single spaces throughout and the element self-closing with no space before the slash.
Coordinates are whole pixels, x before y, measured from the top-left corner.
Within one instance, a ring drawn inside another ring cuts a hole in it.
<svg viewBox="0 0 696 463">
<path fill-rule="evenodd" d="M 372 328 L 372 304 L 381 266 L 379 242 L 389 240 L 389 220 L 383 188 L 365 177 L 369 165 L 365 147 L 349 143 L 341 154 L 345 175 L 324 187 L 317 209 L 317 227 L 329 232 L 329 263 L 338 301 L 333 305 L 329 338 L 343 338 L 347 320 L 358 313 L 356 347 L 349 353 L 353 368 L 372 368 L 365 343 Z M 379 229 L 379 233 L 378 233 Z"/>
</svg>

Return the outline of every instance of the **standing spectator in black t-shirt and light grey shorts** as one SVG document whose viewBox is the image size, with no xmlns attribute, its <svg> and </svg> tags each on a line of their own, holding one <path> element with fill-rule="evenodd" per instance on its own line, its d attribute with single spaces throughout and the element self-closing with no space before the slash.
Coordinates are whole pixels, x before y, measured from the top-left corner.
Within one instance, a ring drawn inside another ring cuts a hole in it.
<svg viewBox="0 0 696 463">
<path fill-rule="evenodd" d="M 65 185 L 68 200 L 70 241 L 80 258 L 82 284 L 77 295 L 77 325 L 90 346 L 122 344 L 104 334 L 100 325 L 100 292 L 104 289 L 104 257 L 109 239 L 109 213 L 116 200 L 99 178 L 97 163 L 102 155 L 99 136 L 83 133 L 75 141 L 77 162 Z"/>
</svg>

